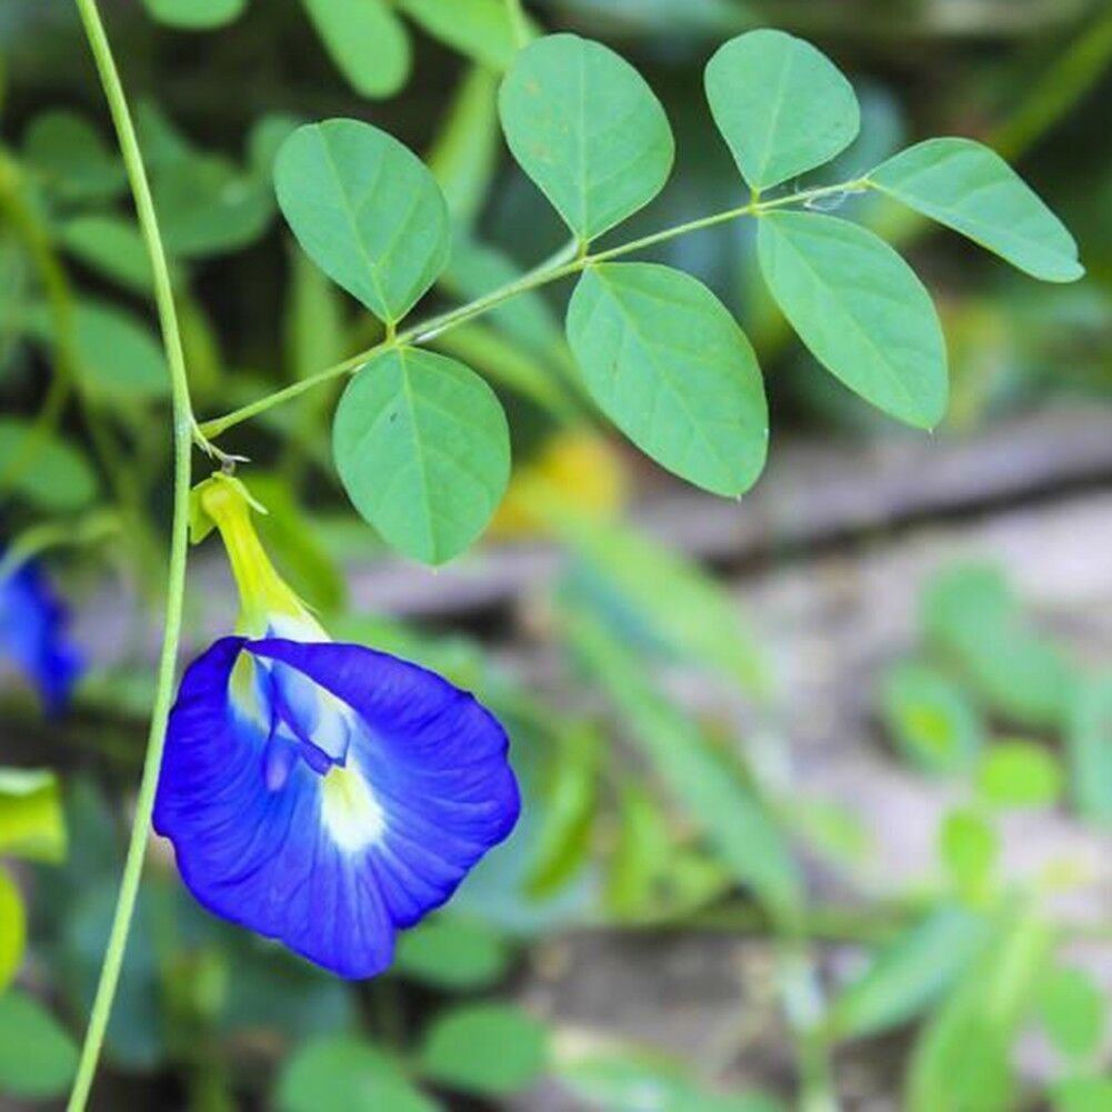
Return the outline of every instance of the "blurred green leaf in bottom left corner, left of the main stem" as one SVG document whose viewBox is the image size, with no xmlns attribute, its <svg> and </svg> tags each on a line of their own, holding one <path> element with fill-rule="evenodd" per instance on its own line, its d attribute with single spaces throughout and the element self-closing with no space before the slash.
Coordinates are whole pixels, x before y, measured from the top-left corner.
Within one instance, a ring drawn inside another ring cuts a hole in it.
<svg viewBox="0 0 1112 1112">
<path fill-rule="evenodd" d="M 0 996 L 0 1092 L 46 1099 L 69 1088 L 77 1048 L 58 1021 L 32 996 Z"/>
</svg>

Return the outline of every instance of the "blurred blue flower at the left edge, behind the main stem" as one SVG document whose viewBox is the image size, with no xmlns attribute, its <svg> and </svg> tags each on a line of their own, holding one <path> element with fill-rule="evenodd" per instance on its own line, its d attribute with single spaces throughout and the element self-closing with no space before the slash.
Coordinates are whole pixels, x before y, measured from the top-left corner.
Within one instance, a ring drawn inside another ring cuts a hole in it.
<svg viewBox="0 0 1112 1112">
<path fill-rule="evenodd" d="M 0 658 L 34 684 L 49 714 L 64 707 L 83 667 L 68 625 L 69 614 L 38 565 L 28 560 L 0 577 Z"/>
</svg>

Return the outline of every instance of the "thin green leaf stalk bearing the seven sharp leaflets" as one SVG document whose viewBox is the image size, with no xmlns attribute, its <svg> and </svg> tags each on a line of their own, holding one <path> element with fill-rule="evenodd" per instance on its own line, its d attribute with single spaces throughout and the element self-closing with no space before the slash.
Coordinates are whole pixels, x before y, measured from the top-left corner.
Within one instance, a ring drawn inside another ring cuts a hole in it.
<svg viewBox="0 0 1112 1112">
<path fill-rule="evenodd" d="M 747 205 L 742 205 L 738 208 L 725 209 L 722 212 L 713 212 L 711 216 L 699 217 L 697 220 L 677 224 L 671 228 L 655 231 L 649 236 L 643 236 L 641 239 L 631 240 L 628 244 L 619 244 L 617 247 L 596 251 L 593 255 L 576 255 L 577 245 L 569 244 L 557 251 L 552 259 L 540 264 L 540 266 L 523 275 L 520 278 L 507 282 L 505 286 L 500 286 L 498 289 L 492 290 L 489 294 L 457 309 L 431 317 L 428 320 L 397 332 L 395 336 L 388 336 L 374 347 L 367 348 L 365 351 L 360 351 L 358 355 L 354 355 L 342 363 L 338 363 L 332 367 L 326 367 L 324 370 L 318 370 L 315 375 L 309 375 L 300 381 L 292 383 L 280 390 L 276 390 L 274 394 L 268 394 L 221 417 L 214 417 L 211 420 L 207 420 L 200 425 L 199 433 L 207 440 L 215 440 L 229 428 L 249 420 L 251 417 L 257 417 L 274 406 L 281 405 L 284 401 L 290 401 L 305 394 L 306 390 L 311 390 L 315 386 L 319 386 L 321 383 L 329 383 L 334 378 L 339 378 L 342 375 L 358 370 L 381 351 L 395 347 L 404 347 L 409 344 L 427 344 L 448 329 L 480 317 L 504 301 L 508 301 L 510 298 L 517 297 L 520 294 L 527 294 L 529 290 L 539 289 L 542 286 L 547 286 L 560 278 L 568 278 L 579 274 L 579 271 L 595 264 L 608 262 L 612 259 L 618 259 L 635 251 L 642 251 L 646 247 L 654 247 L 657 244 L 675 239 L 678 236 L 686 236 L 693 231 L 713 228 L 716 225 L 727 224 L 741 217 L 761 216 L 774 209 L 787 208 L 792 205 L 806 205 L 823 197 L 862 192 L 872 187 L 868 181 L 856 179 L 854 181 L 838 182 L 835 186 L 822 186 L 818 189 L 805 189 L 802 192 L 787 193 L 784 197 L 777 197 L 773 200 L 751 200 Z"/>
</svg>

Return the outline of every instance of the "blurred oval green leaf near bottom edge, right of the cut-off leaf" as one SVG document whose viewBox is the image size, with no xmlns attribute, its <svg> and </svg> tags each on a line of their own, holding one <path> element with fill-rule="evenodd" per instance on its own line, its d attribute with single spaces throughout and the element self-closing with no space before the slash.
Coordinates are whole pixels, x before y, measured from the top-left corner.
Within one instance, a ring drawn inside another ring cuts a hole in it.
<svg viewBox="0 0 1112 1112">
<path fill-rule="evenodd" d="M 433 1021 L 418 1064 L 453 1089 L 508 1095 L 534 1084 L 547 1058 L 547 1032 L 528 1012 L 513 1004 L 468 1004 Z"/>
</svg>

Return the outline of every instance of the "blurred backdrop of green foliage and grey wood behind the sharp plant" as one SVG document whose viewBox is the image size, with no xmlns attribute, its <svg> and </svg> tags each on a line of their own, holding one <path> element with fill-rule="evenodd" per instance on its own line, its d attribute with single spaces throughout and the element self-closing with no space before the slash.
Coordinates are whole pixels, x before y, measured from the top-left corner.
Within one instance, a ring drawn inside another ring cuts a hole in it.
<svg viewBox="0 0 1112 1112">
<path fill-rule="evenodd" d="M 270 165 L 299 121 L 368 120 L 430 163 L 455 227 L 429 307 L 566 238 L 498 131 L 500 3 L 396 0 L 363 36 L 328 8 L 102 3 L 202 417 L 378 336 L 277 216 Z M 841 201 L 940 306 L 953 401 L 927 436 L 797 346 L 752 227 L 663 245 L 653 258 L 718 294 L 765 373 L 770 464 L 739 503 L 659 471 L 592 411 L 563 338 L 568 288 L 519 298 L 438 341 L 503 398 L 516 478 L 488 536 L 437 573 L 390 556 L 347 506 L 330 385 L 228 434 L 270 510 L 266 542 L 334 636 L 497 709 L 524 817 L 388 975 L 355 985 L 208 916 L 152 844 L 93 1105 L 1112 1110 L 1112 4 L 528 11 L 538 31 L 618 50 L 667 109 L 676 171 L 623 240 L 739 202 L 702 68 L 774 26 L 826 51 L 862 102 L 861 139 L 808 182 L 979 138 L 1063 217 L 1088 277 L 1036 286 L 875 198 Z M 0 547 L 41 549 L 85 661 L 70 704 L 44 713 L 3 644 L 0 582 L 0 1109 L 14 1110 L 64 1095 L 83 1031 L 169 517 L 150 274 L 64 0 L 0 2 Z M 234 608 L 210 540 L 192 555 L 187 652 Z"/>
</svg>

